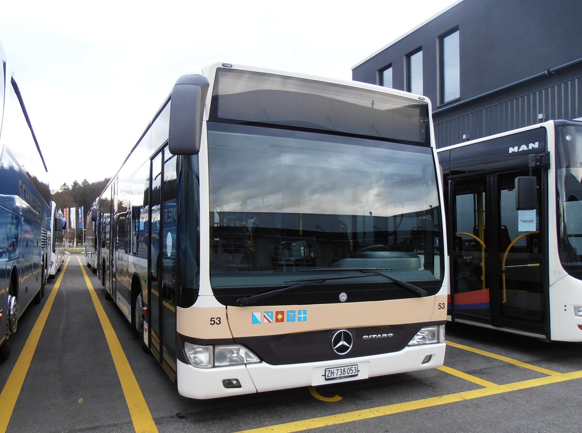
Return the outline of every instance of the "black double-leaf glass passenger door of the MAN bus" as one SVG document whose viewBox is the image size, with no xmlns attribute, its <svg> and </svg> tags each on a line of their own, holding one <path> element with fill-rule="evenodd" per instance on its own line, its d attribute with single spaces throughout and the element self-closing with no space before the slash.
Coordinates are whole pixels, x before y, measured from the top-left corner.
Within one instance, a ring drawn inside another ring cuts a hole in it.
<svg viewBox="0 0 582 433">
<path fill-rule="evenodd" d="M 516 210 L 514 181 L 526 171 L 450 181 L 453 321 L 546 334 L 548 305 L 542 168 L 537 209 Z"/>
</svg>

